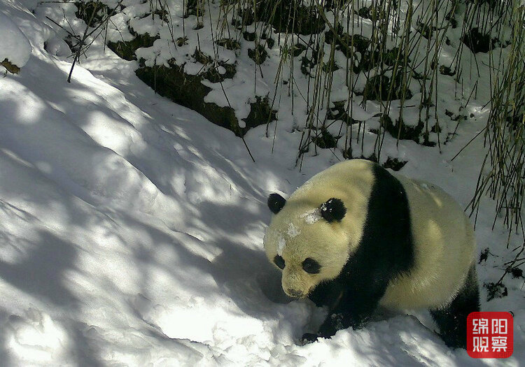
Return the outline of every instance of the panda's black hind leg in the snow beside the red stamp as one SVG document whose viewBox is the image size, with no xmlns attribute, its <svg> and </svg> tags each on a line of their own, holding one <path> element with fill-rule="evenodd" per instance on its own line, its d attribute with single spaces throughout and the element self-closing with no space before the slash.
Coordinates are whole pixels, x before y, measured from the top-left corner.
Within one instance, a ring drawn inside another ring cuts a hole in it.
<svg viewBox="0 0 525 367">
<path fill-rule="evenodd" d="M 430 310 L 440 329 L 440 336 L 448 347 L 467 347 L 467 317 L 479 311 L 479 288 L 475 264 L 470 266 L 465 284 L 449 305 Z"/>
</svg>

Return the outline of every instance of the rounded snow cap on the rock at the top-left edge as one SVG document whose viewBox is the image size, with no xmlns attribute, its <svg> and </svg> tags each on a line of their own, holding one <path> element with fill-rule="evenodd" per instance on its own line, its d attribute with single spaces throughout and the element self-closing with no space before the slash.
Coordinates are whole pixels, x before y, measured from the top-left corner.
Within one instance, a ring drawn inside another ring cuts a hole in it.
<svg viewBox="0 0 525 367">
<path fill-rule="evenodd" d="M 31 44 L 20 28 L 0 12 L 0 62 L 5 59 L 21 68 L 29 60 Z"/>
</svg>

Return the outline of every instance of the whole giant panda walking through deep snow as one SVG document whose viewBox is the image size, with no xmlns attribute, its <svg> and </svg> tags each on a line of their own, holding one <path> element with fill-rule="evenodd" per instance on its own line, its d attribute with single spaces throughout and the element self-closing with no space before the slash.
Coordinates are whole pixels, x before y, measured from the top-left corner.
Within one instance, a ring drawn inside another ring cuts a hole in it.
<svg viewBox="0 0 525 367">
<path fill-rule="evenodd" d="M 283 291 L 328 306 L 302 343 L 359 329 L 381 305 L 426 308 L 446 345 L 466 347 L 467 316 L 479 311 L 475 236 L 442 189 L 353 159 L 267 204 L 263 242 Z"/>
</svg>

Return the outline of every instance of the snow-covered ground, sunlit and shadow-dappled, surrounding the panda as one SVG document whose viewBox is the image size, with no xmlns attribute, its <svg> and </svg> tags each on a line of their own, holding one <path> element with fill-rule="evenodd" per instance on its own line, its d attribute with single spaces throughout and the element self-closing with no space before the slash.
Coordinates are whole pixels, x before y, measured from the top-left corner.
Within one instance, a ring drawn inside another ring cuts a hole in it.
<svg viewBox="0 0 525 367">
<path fill-rule="evenodd" d="M 98 43 L 68 83 L 71 58 L 59 52 L 63 41 L 43 13 L 31 11 L 37 7 L 0 3 L 0 31 L 8 29 L 0 45 L 14 35 L 24 48 L 14 48 L 20 74 L 0 77 L 1 366 L 525 362 L 523 279 L 510 275 L 504 298 L 486 302 L 482 288 L 483 310 L 514 313 L 514 354 L 506 360 L 449 350 L 424 312 L 380 316 L 363 330 L 297 345 L 323 311 L 282 294 L 262 249 L 266 197 L 290 194 L 335 156 L 318 150 L 299 171 L 300 132 L 277 127 L 272 154 L 262 126 L 246 135 L 253 163 L 232 132 L 155 95 L 133 62 Z M 461 124 L 442 154 L 412 141 L 384 147 L 409 161 L 402 173 L 435 182 L 463 206 L 482 141 L 451 158 L 488 114 L 481 104 L 469 108 L 477 119 Z M 507 250 L 506 229 L 497 222 L 492 231 L 492 222 L 486 199 L 476 233 L 479 252 L 490 247 L 491 255 L 477 268 L 480 285 L 496 282 L 521 245 L 513 236 Z"/>
</svg>

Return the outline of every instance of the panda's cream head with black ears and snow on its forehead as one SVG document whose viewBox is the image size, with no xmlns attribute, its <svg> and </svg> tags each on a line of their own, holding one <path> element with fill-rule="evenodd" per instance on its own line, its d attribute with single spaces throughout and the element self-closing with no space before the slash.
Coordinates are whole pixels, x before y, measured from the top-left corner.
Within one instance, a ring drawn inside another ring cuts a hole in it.
<svg viewBox="0 0 525 367">
<path fill-rule="evenodd" d="M 351 250 L 346 206 L 334 197 L 286 201 L 271 194 L 274 213 L 265 233 L 269 261 L 282 270 L 283 291 L 305 298 L 324 280 L 336 278 Z"/>
</svg>

